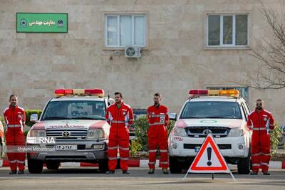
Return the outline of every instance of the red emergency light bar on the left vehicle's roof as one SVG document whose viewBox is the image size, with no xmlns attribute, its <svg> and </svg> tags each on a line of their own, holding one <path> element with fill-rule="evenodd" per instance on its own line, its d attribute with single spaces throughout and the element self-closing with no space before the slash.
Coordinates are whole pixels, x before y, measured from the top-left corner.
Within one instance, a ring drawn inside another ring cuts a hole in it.
<svg viewBox="0 0 285 190">
<path fill-rule="evenodd" d="M 91 96 L 104 96 L 104 90 L 95 88 L 95 89 L 57 89 L 54 91 L 56 97 L 60 97 L 63 95 L 91 95 Z"/>
</svg>

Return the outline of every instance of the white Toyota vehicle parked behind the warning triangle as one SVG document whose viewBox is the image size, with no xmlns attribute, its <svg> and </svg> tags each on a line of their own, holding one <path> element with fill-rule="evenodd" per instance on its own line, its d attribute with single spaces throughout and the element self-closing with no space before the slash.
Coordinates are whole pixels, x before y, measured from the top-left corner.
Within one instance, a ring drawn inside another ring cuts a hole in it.
<svg viewBox="0 0 285 190">
<path fill-rule="evenodd" d="M 251 132 L 249 107 L 237 90 L 190 90 L 169 136 L 170 171 L 189 169 L 208 133 L 229 164 L 249 174 Z"/>
</svg>

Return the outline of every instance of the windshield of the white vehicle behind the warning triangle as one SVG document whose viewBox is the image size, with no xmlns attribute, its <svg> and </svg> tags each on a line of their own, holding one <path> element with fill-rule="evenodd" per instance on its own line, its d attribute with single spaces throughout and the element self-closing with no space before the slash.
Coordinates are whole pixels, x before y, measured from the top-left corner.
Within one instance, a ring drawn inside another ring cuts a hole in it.
<svg viewBox="0 0 285 190">
<path fill-rule="evenodd" d="M 242 114 L 237 102 L 187 102 L 180 118 L 242 119 Z"/>
</svg>

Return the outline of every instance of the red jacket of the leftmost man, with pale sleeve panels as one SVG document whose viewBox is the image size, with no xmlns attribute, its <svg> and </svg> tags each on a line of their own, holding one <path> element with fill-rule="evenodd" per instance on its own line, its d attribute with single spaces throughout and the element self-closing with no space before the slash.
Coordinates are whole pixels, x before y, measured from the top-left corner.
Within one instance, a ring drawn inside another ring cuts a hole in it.
<svg viewBox="0 0 285 190">
<path fill-rule="evenodd" d="M 23 107 L 7 107 L 4 110 L 4 120 L 6 122 L 7 130 L 21 130 L 24 131 L 26 122 L 26 113 Z"/>
</svg>

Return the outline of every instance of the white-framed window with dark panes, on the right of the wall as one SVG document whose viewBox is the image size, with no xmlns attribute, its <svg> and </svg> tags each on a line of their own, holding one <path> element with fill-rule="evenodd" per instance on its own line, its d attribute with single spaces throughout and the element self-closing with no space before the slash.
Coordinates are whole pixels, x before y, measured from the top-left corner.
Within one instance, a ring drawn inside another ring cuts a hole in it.
<svg viewBox="0 0 285 190">
<path fill-rule="evenodd" d="M 208 14 L 207 46 L 247 46 L 248 14 Z"/>
</svg>

